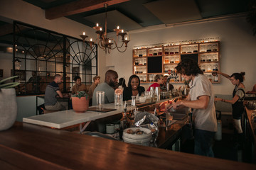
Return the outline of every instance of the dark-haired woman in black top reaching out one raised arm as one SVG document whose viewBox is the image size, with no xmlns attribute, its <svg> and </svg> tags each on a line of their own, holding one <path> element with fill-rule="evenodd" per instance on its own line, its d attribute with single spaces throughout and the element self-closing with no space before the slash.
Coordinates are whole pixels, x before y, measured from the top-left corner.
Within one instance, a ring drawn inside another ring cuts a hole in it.
<svg viewBox="0 0 256 170">
<path fill-rule="evenodd" d="M 232 115 L 233 115 L 233 124 L 235 126 L 235 142 L 238 145 L 242 145 L 242 126 L 241 126 L 241 117 L 244 112 L 243 100 L 245 98 L 245 85 L 242 82 L 245 79 L 245 72 L 233 73 L 231 76 L 223 72 L 217 72 L 223 77 L 230 79 L 231 83 L 235 85 L 233 90 L 232 100 L 225 100 L 224 98 L 215 98 L 215 101 L 222 101 L 225 103 L 232 104 Z"/>
</svg>

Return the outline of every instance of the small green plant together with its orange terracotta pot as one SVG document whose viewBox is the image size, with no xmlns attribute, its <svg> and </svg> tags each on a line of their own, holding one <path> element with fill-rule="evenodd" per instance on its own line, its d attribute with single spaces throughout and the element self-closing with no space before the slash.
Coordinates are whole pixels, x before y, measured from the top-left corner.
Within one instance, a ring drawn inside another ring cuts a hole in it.
<svg viewBox="0 0 256 170">
<path fill-rule="evenodd" d="M 78 91 L 78 93 L 71 96 L 72 106 L 75 113 L 85 113 L 89 107 L 89 96 L 85 91 Z"/>
</svg>

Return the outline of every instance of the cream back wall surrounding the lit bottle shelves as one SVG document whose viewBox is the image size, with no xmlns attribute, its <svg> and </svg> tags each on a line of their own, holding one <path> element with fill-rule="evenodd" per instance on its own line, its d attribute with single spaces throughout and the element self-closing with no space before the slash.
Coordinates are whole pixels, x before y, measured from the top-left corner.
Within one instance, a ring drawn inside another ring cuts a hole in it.
<svg viewBox="0 0 256 170">
<path fill-rule="evenodd" d="M 126 52 L 112 50 L 106 56 L 106 67 L 114 66 L 119 77 L 128 81 L 132 75 L 132 48 L 138 45 L 150 45 L 162 42 L 220 38 L 220 71 L 227 74 L 245 72 L 245 87 L 252 90 L 256 84 L 256 38 L 244 16 L 193 23 L 183 26 L 155 26 L 151 30 L 130 31 L 130 42 Z M 213 84 L 215 94 L 232 94 L 233 84 L 221 77 L 220 84 Z M 150 84 L 143 84 L 148 87 Z M 181 86 L 181 84 L 174 84 Z"/>
</svg>

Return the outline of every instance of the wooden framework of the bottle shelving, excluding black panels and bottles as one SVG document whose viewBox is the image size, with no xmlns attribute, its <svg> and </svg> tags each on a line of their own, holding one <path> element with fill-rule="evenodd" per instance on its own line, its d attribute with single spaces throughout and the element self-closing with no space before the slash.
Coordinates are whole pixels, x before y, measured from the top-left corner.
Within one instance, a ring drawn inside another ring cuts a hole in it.
<svg viewBox="0 0 256 170">
<path fill-rule="evenodd" d="M 208 49 L 218 49 L 218 50 L 211 50 L 211 51 L 204 51 L 204 52 L 201 52 L 202 50 L 208 50 Z M 198 51 L 198 52 L 188 52 L 189 50 L 191 51 Z M 177 52 L 178 53 L 175 53 Z M 185 52 L 184 52 L 185 51 Z M 138 59 L 140 57 L 138 57 L 137 55 L 134 55 L 134 54 L 139 54 L 139 52 L 146 52 L 146 55 L 143 53 L 143 56 L 141 58 L 146 58 L 146 62 L 147 64 L 146 65 L 135 65 L 135 59 Z M 170 54 L 173 53 L 173 54 Z M 157 55 L 149 55 L 152 54 L 152 53 L 157 53 Z M 168 54 L 167 54 L 168 53 Z M 161 55 L 159 55 L 161 54 Z M 145 55 L 145 56 L 144 56 Z M 161 47 L 149 47 L 149 48 L 142 48 L 142 49 L 136 49 L 136 50 L 133 50 L 133 73 L 135 73 L 135 68 L 136 67 L 146 67 L 146 73 L 143 73 L 143 74 L 138 74 L 138 75 L 142 75 L 143 76 L 143 79 L 145 78 L 144 76 L 146 75 L 146 81 L 141 81 L 141 83 L 153 83 L 154 81 L 149 81 L 149 75 L 151 74 L 167 74 L 167 72 L 165 72 L 166 69 L 174 69 L 174 66 L 177 65 L 178 63 L 165 63 L 165 57 L 172 57 L 172 56 L 175 56 L 175 59 L 174 58 L 171 58 L 171 61 L 172 60 L 176 60 L 177 61 L 177 58 L 178 57 L 178 60 L 181 61 L 182 59 L 182 56 L 188 56 L 189 55 L 193 55 L 194 58 L 196 58 L 195 55 L 197 55 L 197 61 L 198 61 L 198 64 L 202 67 L 205 67 L 205 69 L 208 69 L 208 64 L 218 64 L 218 70 L 220 70 L 220 42 L 219 41 L 214 41 L 214 42 L 196 42 L 196 43 L 191 43 L 191 44 L 186 44 L 186 45 L 171 45 L 171 46 L 161 46 Z M 206 60 L 207 60 L 207 57 L 209 57 L 208 55 L 210 55 L 210 57 L 213 58 L 213 60 L 218 60 L 218 61 L 211 61 L 211 62 L 201 62 L 201 57 L 206 57 Z M 162 64 L 161 64 L 161 69 L 162 69 L 162 72 L 161 73 L 148 73 L 147 71 L 149 70 L 148 67 L 148 58 L 149 57 L 162 57 Z M 193 58 L 193 59 L 194 59 Z M 213 67 L 213 66 L 210 66 L 210 67 Z M 215 67 L 215 66 L 214 66 Z M 206 74 L 210 74 L 211 72 L 204 72 Z M 181 76 L 179 75 L 179 80 L 180 81 L 174 81 L 172 83 L 183 83 L 183 81 L 181 81 Z M 212 77 L 212 76 L 210 76 Z M 212 77 L 213 79 L 214 77 Z M 142 78 L 140 78 L 142 79 Z M 210 79 L 210 78 L 209 78 Z M 213 81 L 212 82 L 213 84 L 219 84 L 220 83 L 220 76 L 218 75 L 218 81 Z"/>
</svg>

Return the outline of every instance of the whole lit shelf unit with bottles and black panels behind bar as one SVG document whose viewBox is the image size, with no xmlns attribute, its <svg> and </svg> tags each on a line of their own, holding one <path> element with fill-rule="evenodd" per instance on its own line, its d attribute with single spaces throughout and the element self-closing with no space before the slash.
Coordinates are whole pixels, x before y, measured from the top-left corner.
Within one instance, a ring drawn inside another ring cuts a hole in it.
<svg viewBox="0 0 256 170">
<path fill-rule="evenodd" d="M 133 73 L 141 83 L 153 83 L 156 74 L 173 75 L 171 83 L 182 83 L 174 68 L 183 58 L 196 60 L 213 84 L 220 83 L 220 76 L 211 74 L 220 71 L 220 41 L 134 49 L 132 57 Z"/>
</svg>

